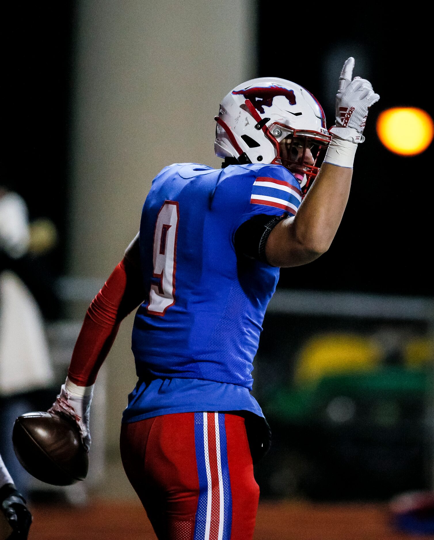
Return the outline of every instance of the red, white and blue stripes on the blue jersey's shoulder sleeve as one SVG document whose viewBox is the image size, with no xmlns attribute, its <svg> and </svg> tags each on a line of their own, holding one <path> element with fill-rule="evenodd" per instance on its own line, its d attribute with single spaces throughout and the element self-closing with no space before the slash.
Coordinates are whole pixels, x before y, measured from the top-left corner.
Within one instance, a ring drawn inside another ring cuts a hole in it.
<svg viewBox="0 0 434 540">
<path fill-rule="evenodd" d="M 285 180 L 258 177 L 253 183 L 250 202 L 274 206 L 295 215 L 302 202 L 302 192 Z"/>
</svg>

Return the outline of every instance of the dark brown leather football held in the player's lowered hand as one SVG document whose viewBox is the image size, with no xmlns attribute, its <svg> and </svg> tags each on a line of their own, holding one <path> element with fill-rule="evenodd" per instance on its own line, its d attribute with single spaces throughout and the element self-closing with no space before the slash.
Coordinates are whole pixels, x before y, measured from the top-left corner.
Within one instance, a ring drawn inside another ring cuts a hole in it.
<svg viewBox="0 0 434 540">
<path fill-rule="evenodd" d="M 15 454 L 24 469 L 48 484 L 84 480 L 89 458 L 74 422 L 50 413 L 18 416 L 12 431 Z"/>
</svg>

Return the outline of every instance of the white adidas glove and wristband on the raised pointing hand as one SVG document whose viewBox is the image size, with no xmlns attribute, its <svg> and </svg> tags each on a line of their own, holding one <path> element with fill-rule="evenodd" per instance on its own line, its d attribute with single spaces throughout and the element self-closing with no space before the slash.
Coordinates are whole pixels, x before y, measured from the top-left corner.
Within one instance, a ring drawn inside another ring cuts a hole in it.
<svg viewBox="0 0 434 540">
<path fill-rule="evenodd" d="M 336 125 L 329 129 L 333 138 L 324 158 L 325 163 L 350 168 L 353 166 L 357 144 L 365 140 L 362 133 L 369 107 L 380 99 L 372 90 L 369 80 L 352 78 L 354 63 L 354 58 L 350 56 L 340 72 L 336 94 Z"/>
</svg>

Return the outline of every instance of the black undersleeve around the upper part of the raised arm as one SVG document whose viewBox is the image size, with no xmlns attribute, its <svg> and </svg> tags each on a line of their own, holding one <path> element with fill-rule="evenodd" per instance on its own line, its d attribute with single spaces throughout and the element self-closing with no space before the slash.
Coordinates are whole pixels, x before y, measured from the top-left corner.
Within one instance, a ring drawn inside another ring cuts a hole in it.
<svg viewBox="0 0 434 540">
<path fill-rule="evenodd" d="M 265 257 L 266 241 L 273 228 L 285 218 L 284 215 L 258 214 L 244 221 L 237 228 L 234 237 L 237 254 L 267 262 Z"/>
</svg>

